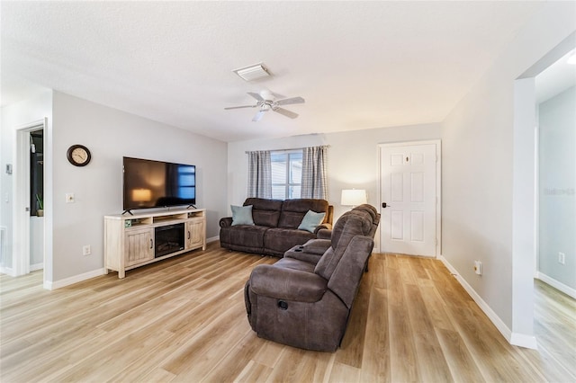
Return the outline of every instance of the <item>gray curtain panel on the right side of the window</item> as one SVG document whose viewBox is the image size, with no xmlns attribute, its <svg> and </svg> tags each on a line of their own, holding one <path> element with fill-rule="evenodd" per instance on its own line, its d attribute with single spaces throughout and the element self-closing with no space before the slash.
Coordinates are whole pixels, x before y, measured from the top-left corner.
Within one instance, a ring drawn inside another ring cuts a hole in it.
<svg viewBox="0 0 576 383">
<path fill-rule="evenodd" d="M 328 147 L 302 148 L 302 198 L 328 200 Z"/>
</svg>

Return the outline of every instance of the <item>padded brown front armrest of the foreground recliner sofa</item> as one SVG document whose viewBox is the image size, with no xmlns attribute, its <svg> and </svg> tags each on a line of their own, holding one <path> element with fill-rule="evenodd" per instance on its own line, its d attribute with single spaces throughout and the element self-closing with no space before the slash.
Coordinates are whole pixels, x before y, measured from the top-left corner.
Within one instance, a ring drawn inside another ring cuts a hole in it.
<svg viewBox="0 0 576 383">
<path fill-rule="evenodd" d="M 328 281 L 313 272 L 260 264 L 250 275 L 250 289 L 265 297 L 318 302 L 328 289 Z"/>
</svg>

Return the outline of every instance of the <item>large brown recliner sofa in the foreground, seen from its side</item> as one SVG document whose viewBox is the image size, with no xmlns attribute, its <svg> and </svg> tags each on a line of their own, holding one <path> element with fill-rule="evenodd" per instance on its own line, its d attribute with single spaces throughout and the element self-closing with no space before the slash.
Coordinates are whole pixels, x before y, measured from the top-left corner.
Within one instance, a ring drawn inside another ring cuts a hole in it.
<svg viewBox="0 0 576 383">
<path fill-rule="evenodd" d="M 379 221 L 377 213 L 349 211 L 338 219 L 318 263 L 285 256 L 255 267 L 244 297 L 257 335 L 302 349 L 336 351 L 374 247 L 374 222 L 377 227 Z"/>
</svg>

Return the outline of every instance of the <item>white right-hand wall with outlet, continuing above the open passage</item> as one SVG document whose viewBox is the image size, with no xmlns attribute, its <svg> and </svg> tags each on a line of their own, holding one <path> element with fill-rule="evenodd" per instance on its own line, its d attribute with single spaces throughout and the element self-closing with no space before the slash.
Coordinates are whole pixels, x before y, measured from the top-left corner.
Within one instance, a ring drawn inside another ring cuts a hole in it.
<svg viewBox="0 0 576 383">
<path fill-rule="evenodd" d="M 574 31 L 575 12 L 574 3 L 545 4 L 442 123 L 443 255 L 496 319 L 528 337 L 531 298 L 513 308 L 513 286 L 516 294 L 532 297 L 531 275 L 515 273 L 512 262 L 512 200 L 522 192 L 513 190 L 513 172 L 526 170 L 522 164 L 515 169 L 513 161 L 515 80 Z M 533 131 L 527 127 L 525 134 Z M 522 256 L 518 264 L 533 262 L 533 254 Z M 482 261 L 482 276 L 474 274 L 474 260 Z M 522 325 L 513 323 L 518 317 L 525 318 Z"/>
</svg>

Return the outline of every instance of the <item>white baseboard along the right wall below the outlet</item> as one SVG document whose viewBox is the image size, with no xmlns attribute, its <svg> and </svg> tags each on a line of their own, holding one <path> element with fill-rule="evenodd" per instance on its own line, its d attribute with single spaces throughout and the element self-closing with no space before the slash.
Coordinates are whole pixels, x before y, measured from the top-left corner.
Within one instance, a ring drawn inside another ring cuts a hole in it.
<svg viewBox="0 0 576 383">
<path fill-rule="evenodd" d="M 440 255 L 440 261 L 442 261 L 442 263 L 446 265 L 446 268 L 448 268 L 448 270 L 455 275 L 456 281 L 458 281 L 462 287 L 464 287 L 466 292 L 470 294 L 470 296 L 474 299 L 474 302 L 476 302 L 484 314 L 486 314 L 486 316 L 488 316 L 496 328 L 498 328 L 500 334 L 502 334 L 510 344 L 526 347 L 529 349 L 536 349 L 536 337 L 534 335 L 512 333 L 508 325 L 506 325 L 502 319 L 500 319 L 500 316 L 498 316 L 494 310 L 492 310 L 491 307 L 484 301 L 484 299 L 478 295 L 476 290 L 474 290 L 472 286 L 470 286 L 468 282 L 462 278 L 454 266 L 452 266 L 452 264 L 450 264 L 444 256 Z"/>
</svg>

